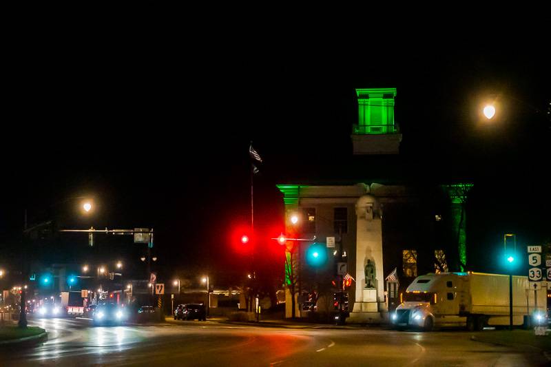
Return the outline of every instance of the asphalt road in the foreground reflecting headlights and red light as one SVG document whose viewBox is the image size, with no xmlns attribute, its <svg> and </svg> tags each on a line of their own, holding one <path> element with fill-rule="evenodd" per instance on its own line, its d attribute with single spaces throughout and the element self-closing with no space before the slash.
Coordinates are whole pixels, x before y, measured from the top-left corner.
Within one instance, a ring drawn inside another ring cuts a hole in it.
<svg viewBox="0 0 551 367">
<path fill-rule="evenodd" d="M 171 321 L 92 327 L 85 319 L 34 319 L 48 342 L 0 350 L 1 366 L 544 366 L 535 350 L 471 339 L 465 331 L 268 328 Z"/>
</svg>

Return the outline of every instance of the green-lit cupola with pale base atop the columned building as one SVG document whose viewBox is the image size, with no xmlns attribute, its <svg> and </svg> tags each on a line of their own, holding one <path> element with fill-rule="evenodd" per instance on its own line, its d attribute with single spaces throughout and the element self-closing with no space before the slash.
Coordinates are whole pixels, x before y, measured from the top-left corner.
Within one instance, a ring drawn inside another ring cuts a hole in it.
<svg viewBox="0 0 551 367">
<path fill-rule="evenodd" d="M 402 134 L 394 121 L 396 88 L 357 88 L 358 123 L 354 154 L 398 154 Z"/>
</svg>

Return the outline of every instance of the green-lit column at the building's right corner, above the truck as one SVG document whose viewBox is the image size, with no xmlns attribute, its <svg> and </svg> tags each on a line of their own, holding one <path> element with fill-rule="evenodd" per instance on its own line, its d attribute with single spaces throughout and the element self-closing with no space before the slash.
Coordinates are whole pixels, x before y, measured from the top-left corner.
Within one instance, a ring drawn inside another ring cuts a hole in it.
<svg viewBox="0 0 551 367">
<path fill-rule="evenodd" d="M 459 254 L 459 270 L 465 271 L 467 264 L 467 236 L 466 236 L 466 211 L 467 193 L 472 184 L 461 183 L 457 185 L 446 185 L 446 190 L 451 200 L 452 226 L 457 239 L 457 252 Z"/>
</svg>

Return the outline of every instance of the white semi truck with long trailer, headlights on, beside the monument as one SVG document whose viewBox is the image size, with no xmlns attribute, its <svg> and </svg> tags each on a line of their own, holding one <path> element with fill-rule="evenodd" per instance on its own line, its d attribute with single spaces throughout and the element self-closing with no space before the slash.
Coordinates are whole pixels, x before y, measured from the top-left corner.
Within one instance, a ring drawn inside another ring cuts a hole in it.
<svg viewBox="0 0 551 367">
<path fill-rule="evenodd" d="M 530 289 L 528 277 L 512 276 L 512 324 L 526 324 L 530 317 L 545 317 L 547 289 Z M 439 326 L 485 326 L 510 324 L 509 275 L 487 273 L 437 273 L 416 277 L 400 304 L 391 313 L 397 328 L 418 327 L 426 331 Z"/>
</svg>

